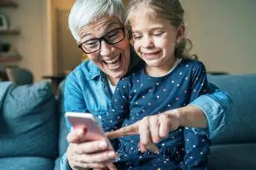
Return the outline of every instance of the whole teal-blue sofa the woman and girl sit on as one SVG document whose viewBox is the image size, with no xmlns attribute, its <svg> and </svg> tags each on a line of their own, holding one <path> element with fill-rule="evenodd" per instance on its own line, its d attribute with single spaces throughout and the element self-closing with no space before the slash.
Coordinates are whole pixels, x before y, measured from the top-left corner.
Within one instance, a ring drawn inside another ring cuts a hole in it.
<svg viewBox="0 0 256 170">
<path fill-rule="evenodd" d="M 256 75 L 209 76 L 227 91 L 236 112 L 214 139 L 209 170 L 256 169 Z M 0 170 L 59 170 L 66 151 L 66 123 L 59 97 L 47 82 L 16 86 L 0 82 Z"/>
</svg>

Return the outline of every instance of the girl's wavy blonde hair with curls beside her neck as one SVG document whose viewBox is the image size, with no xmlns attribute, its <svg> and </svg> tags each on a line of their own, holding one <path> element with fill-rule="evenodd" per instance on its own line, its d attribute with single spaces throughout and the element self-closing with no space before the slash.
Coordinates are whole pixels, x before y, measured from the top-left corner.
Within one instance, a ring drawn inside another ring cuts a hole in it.
<svg viewBox="0 0 256 170">
<path fill-rule="evenodd" d="M 153 10 L 154 16 L 169 22 L 169 24 L 175 28 L 178 28 L 179 25 L 184 25 L 184 9 L 181 7 L 181 3 L 178 0 L 130 0 L 126 9 L 125 21 L 130 38 L 132 37 L 129 22 L 130 16 L 134 13 L 139 4 L 145 4 L 145 10 L 147 10 L 147 8 Z M 189 54 L 192 47 L 192 42 L 188 38 L 179 40 L 175 44 L 175 57 L 197 59 L 197 55 Z"/>
</svg>

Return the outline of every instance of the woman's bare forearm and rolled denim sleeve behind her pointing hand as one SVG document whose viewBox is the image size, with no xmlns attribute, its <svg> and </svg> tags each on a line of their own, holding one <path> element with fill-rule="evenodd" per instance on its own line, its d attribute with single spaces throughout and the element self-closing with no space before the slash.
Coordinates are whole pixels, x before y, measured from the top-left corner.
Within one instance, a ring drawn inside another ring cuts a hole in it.
<svg viewBox="0 0 256 170">
<path fill-rule="evenodd" d="M 230 120 L 233 101 L 226 92 L 211 83 L 209 83 L 209 91 L 209 94 L 202 95 L 190 105 L 181 108 L 181 114 L 184 115 L 181 116 L 181 122 L 183 122 L 181 124 L 194 127 L 194 132 L 205 134 L 209 139 L 213 139 Z"/>
</svg>

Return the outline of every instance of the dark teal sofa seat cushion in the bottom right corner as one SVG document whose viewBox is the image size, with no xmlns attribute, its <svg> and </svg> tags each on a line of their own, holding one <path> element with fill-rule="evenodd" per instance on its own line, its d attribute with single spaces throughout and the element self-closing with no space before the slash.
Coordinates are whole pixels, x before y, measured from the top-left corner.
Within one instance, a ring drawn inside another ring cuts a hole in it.
<svg viewBox="0 0 256 170">
<path fill-rule="evenodd" d="M 256 144 L 215 145 L 211 148 L 209 170 L 255 169 Z"/>
</svg>

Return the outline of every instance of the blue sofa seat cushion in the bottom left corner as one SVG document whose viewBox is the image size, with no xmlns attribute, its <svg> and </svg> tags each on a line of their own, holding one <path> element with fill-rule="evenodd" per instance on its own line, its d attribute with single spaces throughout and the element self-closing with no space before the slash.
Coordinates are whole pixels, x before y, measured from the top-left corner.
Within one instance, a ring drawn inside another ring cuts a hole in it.
<svg viewBox="0 0 256 170">
<path fill-rule="evenodd" d="M 54 167 L 54 160 L 42 157 L 8 157 L 0 159 L 0 170 L 49 170 Z"/>
</svg>

